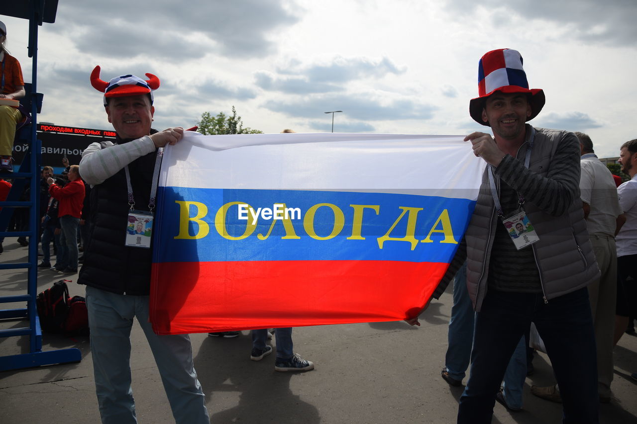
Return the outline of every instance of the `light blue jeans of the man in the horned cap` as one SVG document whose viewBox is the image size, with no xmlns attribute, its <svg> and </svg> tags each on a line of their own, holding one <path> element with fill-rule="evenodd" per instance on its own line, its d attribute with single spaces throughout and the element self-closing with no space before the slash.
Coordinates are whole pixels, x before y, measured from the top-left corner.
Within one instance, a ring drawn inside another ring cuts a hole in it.
<svg viewBox="0 0 637 424">
<path fill-rule="evenodd" d="M 148 296 L 86 288 L 90 350 L 99 414 L 104 424 L 137 423 L 131 388 L 131 327 L 137 317 L 155 357 L 176 423 L 209 424 L 206 399 L 187 334 L 157 336 L 148 322 Z"/>
</svg>

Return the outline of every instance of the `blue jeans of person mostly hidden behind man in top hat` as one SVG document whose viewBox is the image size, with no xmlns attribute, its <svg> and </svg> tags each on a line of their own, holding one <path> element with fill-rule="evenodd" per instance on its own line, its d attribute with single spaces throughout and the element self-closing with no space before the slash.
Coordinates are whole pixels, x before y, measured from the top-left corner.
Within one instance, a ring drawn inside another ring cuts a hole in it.
<svg viewBox="0 0 637 424">
<path fill-rule="evenodd" d="M 475 312 L 467 291 L 467 264 L 455 274 L 454 306 L 449 320 L 448 347 L 445 355 L 445 367 L 449 376 L 457 380 L 465 377 L 471 359 L 473 344 L 473 325 Z M 522 407 L 522 388 L 526 379 L 526 339 L 520 339 L 509 360 L 504 378 L 504 395 L 508 406 Z"/>
</svg>

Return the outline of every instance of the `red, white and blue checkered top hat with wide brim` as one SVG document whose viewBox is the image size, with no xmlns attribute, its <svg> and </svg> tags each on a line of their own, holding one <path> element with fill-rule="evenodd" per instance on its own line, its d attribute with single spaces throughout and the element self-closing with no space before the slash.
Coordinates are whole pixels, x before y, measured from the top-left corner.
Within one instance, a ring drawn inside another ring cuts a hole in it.
<svg viewBox="0 0 637 424">
<path fill-rule="evenodd" d="M 531 116 L 526 119 L 527 121 L 538 116 L 546 101 L 543 90 L 539 88 L 529 90 L 529 82 L 522 68 L 522 56 L 520 52 L 510 48 L 491 50 L 480 59 L 478 64 L 479 97 L 469 102 L 469 115 L 478 124 L 490 126 L 489 122 L 482 120 L 482 109 L 487 97 L 496 91 L 529 94 Z"/>
</svg>

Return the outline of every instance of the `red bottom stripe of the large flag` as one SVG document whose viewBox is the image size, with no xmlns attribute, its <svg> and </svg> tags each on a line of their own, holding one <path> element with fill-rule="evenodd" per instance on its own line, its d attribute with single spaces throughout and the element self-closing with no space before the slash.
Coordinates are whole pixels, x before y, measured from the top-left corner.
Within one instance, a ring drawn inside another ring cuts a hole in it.
<svg viewBox="0 0 637 424">
<path fill-rule="evenodd" d="M 157 334 L 403 320 L 422 309 L 447 267 L 361 260 L 153 264 L 150 319 Z"/>
</svg>

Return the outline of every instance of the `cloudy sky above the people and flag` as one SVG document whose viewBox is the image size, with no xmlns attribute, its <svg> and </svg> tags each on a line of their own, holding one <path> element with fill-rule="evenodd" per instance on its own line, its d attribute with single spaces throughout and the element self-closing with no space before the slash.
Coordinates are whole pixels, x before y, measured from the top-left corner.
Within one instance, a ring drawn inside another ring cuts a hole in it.
<svg viewBox="0 0 637 424">
<path fill-rule="evenodd" d="M 506 3 L 506 4 L 505 4 Z M 0 17 L 31 81 L 27 21 Z M 39 32 L 40 121 L 109 129 L 102 79 L 154 73 L 155 127 L 228 113 L 264 132 L 468 134 L 483 53 L 515 48 L 547 103 L 531 121 L 637 138 L 634 0 L 59 0 Z"/>
</svg>

